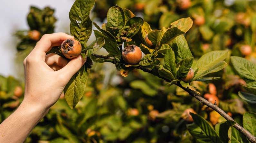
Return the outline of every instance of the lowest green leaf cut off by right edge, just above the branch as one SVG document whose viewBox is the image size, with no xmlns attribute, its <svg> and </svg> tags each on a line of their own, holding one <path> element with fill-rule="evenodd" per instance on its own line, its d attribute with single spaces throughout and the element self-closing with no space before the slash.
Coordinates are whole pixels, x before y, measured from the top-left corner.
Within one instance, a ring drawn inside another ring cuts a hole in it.
<svg viewBox="0 0 256 143">
<path fill-rule="evenodd" d="M 252 112 L 246 112 L 243 115 L 243 127 L 250 131 L 253 136 L 256 137 L 256 114 Z"/>
</svg>

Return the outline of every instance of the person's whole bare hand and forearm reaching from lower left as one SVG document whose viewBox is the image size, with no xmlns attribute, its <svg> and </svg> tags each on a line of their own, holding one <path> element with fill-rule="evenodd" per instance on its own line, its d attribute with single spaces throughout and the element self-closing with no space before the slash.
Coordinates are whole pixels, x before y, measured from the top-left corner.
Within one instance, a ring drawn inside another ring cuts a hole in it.
<svg viewBox="0 0 256 143">
<path fill-rule="evenodd" d="M 44 35 L 24 60 L 25 93 L 21 105 L 0 124 L 1 143 L 22 143 L 57 102 L 71 77 L 86 60 L 81 56 L 70 61 L 50 53 L 52 47 L 74 38 L 65 33 Z"/>
</svg>

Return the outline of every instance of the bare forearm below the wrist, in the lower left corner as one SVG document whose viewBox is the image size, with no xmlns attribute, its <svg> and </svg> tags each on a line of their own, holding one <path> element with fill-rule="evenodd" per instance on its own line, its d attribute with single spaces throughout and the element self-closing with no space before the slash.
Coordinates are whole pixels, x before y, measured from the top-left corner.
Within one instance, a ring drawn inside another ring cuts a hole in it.
<svg viewBox="0 0 256 143">
<path fill-rule="evenodd" d="M 46 113 L 47 110 L 39 104 L 22 102 L 17 110 L 0 124 L 0 142 L 24 142 Z"/>
</svg>

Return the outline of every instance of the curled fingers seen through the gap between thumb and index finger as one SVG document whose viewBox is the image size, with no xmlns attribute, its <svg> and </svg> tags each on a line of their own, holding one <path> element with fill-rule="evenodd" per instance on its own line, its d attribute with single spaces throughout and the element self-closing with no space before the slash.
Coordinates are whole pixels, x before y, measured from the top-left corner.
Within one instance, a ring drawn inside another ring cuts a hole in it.
<svg viewBox="0 0 256 143">
<path fill-rule="evenodd" d="M 63 68 L 64 66 L 67 65 L 68 60 L 66 60 L 65 58 L 62 58 L 61 56 L 55 53 L 50 53 L 45 56 L 45 63 L 51 68 L 56 66 Z"/>
</svg>

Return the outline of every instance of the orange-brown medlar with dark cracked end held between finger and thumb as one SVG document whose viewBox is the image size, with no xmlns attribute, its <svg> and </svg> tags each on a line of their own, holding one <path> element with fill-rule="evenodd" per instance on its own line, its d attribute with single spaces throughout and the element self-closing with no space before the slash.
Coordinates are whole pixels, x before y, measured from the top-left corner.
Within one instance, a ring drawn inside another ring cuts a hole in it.
<svg viewBox="0 0 256 143">
<path fill-rule="evenodd" d="M 67 39 L 61 44 L 61 52 L 68 59 L 78 57 L 81 51 L 82 46 L 80 42 L 75 39 Z"/>
</svg>

